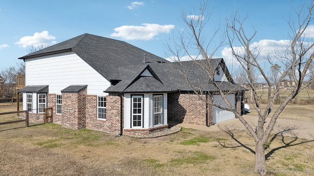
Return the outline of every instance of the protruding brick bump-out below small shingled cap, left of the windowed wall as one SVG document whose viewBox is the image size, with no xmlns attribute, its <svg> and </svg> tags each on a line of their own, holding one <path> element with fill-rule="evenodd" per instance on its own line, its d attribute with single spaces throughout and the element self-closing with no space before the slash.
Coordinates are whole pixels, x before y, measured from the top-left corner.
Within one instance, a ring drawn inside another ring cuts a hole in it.
<svg viewBox="0 0 314 176">
<path fill-rule="evenodd" d="M 62 93 L 62 127 L 86 127 L 86 88 L 78 93 Z"/>
</svg>

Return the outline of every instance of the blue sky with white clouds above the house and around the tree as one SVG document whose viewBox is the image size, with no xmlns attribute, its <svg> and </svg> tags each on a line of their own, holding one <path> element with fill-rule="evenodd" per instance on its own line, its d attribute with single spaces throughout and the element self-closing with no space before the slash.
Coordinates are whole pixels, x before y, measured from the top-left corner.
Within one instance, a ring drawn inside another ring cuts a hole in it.
<svg viewBox="0 0 314 176">
<path fill-rule="evenodd" d="M 277 43 L 289 39 L 285 19 L 297 20 L 293 8 L 309 2 L 208 0 L 213 14 L 205 30 L 210 35 L 238 11 L 242 18 L 248 15 L 248 31 L 252 26 L 257 31 L 254 42 Z M 193 12 L 199 5 L 198 0 L 1 0 L 0 71 L 19 62 L 31 44 L 52 45 L 84 33 L 125 41 L 166 58 L 167 40 L 184 27 L 182 10 Z M 231 59 L 224 47 L 216 56 Z"/>
</svg>

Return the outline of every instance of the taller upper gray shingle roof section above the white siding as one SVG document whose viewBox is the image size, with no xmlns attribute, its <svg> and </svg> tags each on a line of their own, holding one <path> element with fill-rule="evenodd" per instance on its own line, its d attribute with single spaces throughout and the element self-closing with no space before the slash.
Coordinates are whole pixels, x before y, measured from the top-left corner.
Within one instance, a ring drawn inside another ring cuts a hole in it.
<svg viewBox="0 0 314 176">
<path fill-rule="evenodd" d="M 70 40 L 33 52 L 19 59 L 45 56 L 67 51 L 75 52 L 87 64 L 107 80 L 122 80 L 118 67 L 147 65 L 147 63 L 168 62 L 161 57 L 144 51 L 123 41 L 91 34 L 83 34 Z M 144 63 L 145 60 L 147 63 Z"/>
</svg>

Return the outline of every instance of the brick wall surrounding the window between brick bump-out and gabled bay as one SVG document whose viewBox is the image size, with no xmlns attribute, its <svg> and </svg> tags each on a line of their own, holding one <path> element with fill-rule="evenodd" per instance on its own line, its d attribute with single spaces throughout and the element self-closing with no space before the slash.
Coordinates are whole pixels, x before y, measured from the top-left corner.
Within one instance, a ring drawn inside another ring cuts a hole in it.
<svg viewBox="0 0 314 176">
<path fill-rule="evenodd" d="M 122 101 L 123 105 L 124 97 Z M 97 119 L 97 95 L 87 95 L 86 108 L 86 128 L 112 134 L 120 133 L 120 97 L 118 94 L 109 93 L 106 96 L 106 120 Z"/>
</svg>

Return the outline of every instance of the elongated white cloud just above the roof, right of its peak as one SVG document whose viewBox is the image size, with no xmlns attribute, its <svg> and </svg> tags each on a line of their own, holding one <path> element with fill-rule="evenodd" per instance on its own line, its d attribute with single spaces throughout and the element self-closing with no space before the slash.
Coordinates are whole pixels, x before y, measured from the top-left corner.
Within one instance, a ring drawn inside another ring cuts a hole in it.
<svg viewBox="0 0 314 176">
<path fill-rule="evenodd" d="M 114 28 L 114 33 L 110 36 L 121 37 L 125 40 L 152 40 L 159 33 L 169 33 L 175 25 L 159 25 L 144 23 L 141 26 L 123 25 Z"/>
</svg>

